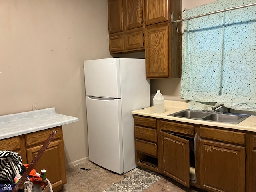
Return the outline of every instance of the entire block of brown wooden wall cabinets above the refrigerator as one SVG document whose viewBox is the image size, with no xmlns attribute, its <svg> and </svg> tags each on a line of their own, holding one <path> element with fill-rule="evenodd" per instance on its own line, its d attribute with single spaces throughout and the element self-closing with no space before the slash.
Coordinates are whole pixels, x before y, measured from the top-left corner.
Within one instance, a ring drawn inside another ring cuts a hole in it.
<svg viewBox="0 0 256 192">
<path fill-rule="evenodd" d="M 181 77 L 181 0 L 108 0 L 109 50 L 145 50 L 146 78 Z M 144 22 L 145 21 L 145 22 Z"/>
</svg>

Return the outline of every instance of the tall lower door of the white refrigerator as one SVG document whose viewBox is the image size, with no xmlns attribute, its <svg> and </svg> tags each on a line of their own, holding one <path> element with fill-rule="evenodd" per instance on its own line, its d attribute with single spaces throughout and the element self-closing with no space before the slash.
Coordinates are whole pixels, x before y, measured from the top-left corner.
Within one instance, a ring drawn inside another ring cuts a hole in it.
<svg viewBox="0 0 256 192">
<path fill-rule="evenodd" d="M 90 161 L 124 172 L 121 99 L 86 96 Z"/>
</svg>

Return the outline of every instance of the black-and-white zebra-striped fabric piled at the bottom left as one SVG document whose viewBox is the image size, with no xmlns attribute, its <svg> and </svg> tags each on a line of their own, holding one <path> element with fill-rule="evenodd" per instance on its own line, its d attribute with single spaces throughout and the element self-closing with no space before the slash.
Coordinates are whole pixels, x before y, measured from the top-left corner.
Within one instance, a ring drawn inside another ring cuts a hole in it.
<svg viewBox="0 0 256 192">
<path fill-rule="evenodd" d="M 18 153 L 12 151 L 0 151 L 0 180 L 9 180 L 12 182 L 15 178 L 15 173 L 10 166 L 10 162 L 7 159 L 8 157 L 12 159 L 19 173 L 21 171 L 22 158 Z"/>
</svg>

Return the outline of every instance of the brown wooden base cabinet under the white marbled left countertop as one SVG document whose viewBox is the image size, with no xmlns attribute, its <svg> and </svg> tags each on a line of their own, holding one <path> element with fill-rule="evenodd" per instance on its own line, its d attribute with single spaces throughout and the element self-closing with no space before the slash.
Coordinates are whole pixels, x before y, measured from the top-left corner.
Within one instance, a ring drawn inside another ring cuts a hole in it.
<svg viewBox="0 0 256 192">
<path fill-rule="evenodd" d="M 22 164 L 30 164 L 52 130 L 56 130 L 57 134 L 34 166 L 34 169 L 38 173 L 42 169 L 46 169 L 46 177 L 50 180 L 53 191 L 58 192 L 62 190 L 62 186 L 67 182 L 62 126 L 0 140 L 0 150 L 18 152 L 22 157 Z"/>
</svg>

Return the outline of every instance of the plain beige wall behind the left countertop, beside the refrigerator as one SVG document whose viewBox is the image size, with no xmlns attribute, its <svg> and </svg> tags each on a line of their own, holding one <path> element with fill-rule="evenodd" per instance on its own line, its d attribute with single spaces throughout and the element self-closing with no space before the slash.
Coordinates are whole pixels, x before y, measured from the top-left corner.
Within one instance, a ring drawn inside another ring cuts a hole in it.
<svg viewBox="0 0 256 192">
<path fill-rule="evenodd" d="M 0 115 L 55 107 L 66 164 L 88 157 L 83 61 L 108 53 L 107 0 L 0 0 Z"/>
</svg>

